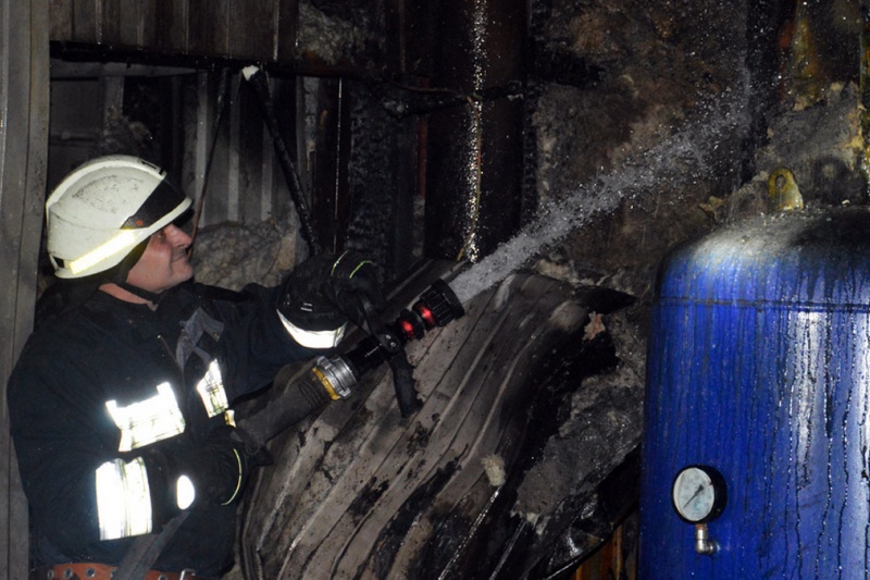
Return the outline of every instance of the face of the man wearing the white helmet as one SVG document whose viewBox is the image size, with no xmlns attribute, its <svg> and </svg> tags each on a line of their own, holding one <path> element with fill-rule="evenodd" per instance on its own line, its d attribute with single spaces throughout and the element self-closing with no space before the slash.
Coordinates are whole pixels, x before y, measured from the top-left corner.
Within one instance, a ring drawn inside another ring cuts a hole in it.
<svg viewBox="0 0 870 580">
<path fill-rule="evenodd" d="M 161 293 L 190 280 L 194 268 L 187 261 L 187 248 L 191 242 L 189 235 L 173 224 L 152 234 L 141 258 L 127 274 L 127 282 Z"/>
</svg>

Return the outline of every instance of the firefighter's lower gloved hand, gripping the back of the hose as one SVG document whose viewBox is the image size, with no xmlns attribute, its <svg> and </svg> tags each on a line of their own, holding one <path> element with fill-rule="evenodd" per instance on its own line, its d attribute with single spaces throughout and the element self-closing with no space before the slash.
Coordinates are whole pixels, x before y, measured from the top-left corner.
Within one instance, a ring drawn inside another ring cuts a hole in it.
<svg viewBox="0 0 870 580">
<path fill-rule="evenodd" d="M 240 496 L 253 469 L 270 462 L 269 452 L 246 442 L 241 431 L 223 425 L 187 454 L 177 469 L 192 483 L 196 502 L 227 505 Z"/>
</svg>

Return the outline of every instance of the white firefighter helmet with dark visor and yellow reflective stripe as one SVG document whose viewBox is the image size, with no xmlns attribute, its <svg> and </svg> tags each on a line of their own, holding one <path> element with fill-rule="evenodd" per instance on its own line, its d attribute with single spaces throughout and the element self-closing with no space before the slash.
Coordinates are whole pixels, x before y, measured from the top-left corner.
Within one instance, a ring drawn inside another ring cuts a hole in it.
<svg viewBox="0 0 870 580">
<path fill-rule="evenodd" d="M 128 156 L 88 161 L 46 201 L 48 255 L 58 277 L 83 277 L 119 264 L 172 223 L 190 199 L 151 163 Z"/>
</svg>

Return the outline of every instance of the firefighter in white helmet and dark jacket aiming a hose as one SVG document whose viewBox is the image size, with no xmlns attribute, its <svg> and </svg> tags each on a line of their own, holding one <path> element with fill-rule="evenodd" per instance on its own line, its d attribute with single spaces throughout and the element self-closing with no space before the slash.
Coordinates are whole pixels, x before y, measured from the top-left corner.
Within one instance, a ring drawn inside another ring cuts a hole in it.
<svg viewBox="0 0 870 580">
<path fill-rule="evenodd" d="M 383 305 L 374 266 L 351 254 L 310 258 L 273 288 L 195 283 L 189 207 L 126 156 L 85 163 L 46 202 L 58 281 L 8 385 L 32 578 L 108 579 L 136 538 L 178 521 L 149 578 L 221 576 L 263 460 L 233 403 L 335 347 L 361 294 Z"/>
</svg>

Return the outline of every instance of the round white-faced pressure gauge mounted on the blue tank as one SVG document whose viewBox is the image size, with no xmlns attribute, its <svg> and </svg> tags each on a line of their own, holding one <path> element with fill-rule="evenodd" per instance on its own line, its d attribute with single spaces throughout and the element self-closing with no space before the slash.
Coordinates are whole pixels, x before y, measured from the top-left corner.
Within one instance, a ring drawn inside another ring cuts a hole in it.
<svg viewBox="0 0 870 580">
<path fill-rule="evenodd" d="M 709 466 L 684 467 L 673 480 L 671 499 L 676 514 L 685 521 L 707 523 L 725 509 L 725 480 Z"/>
</svg>

